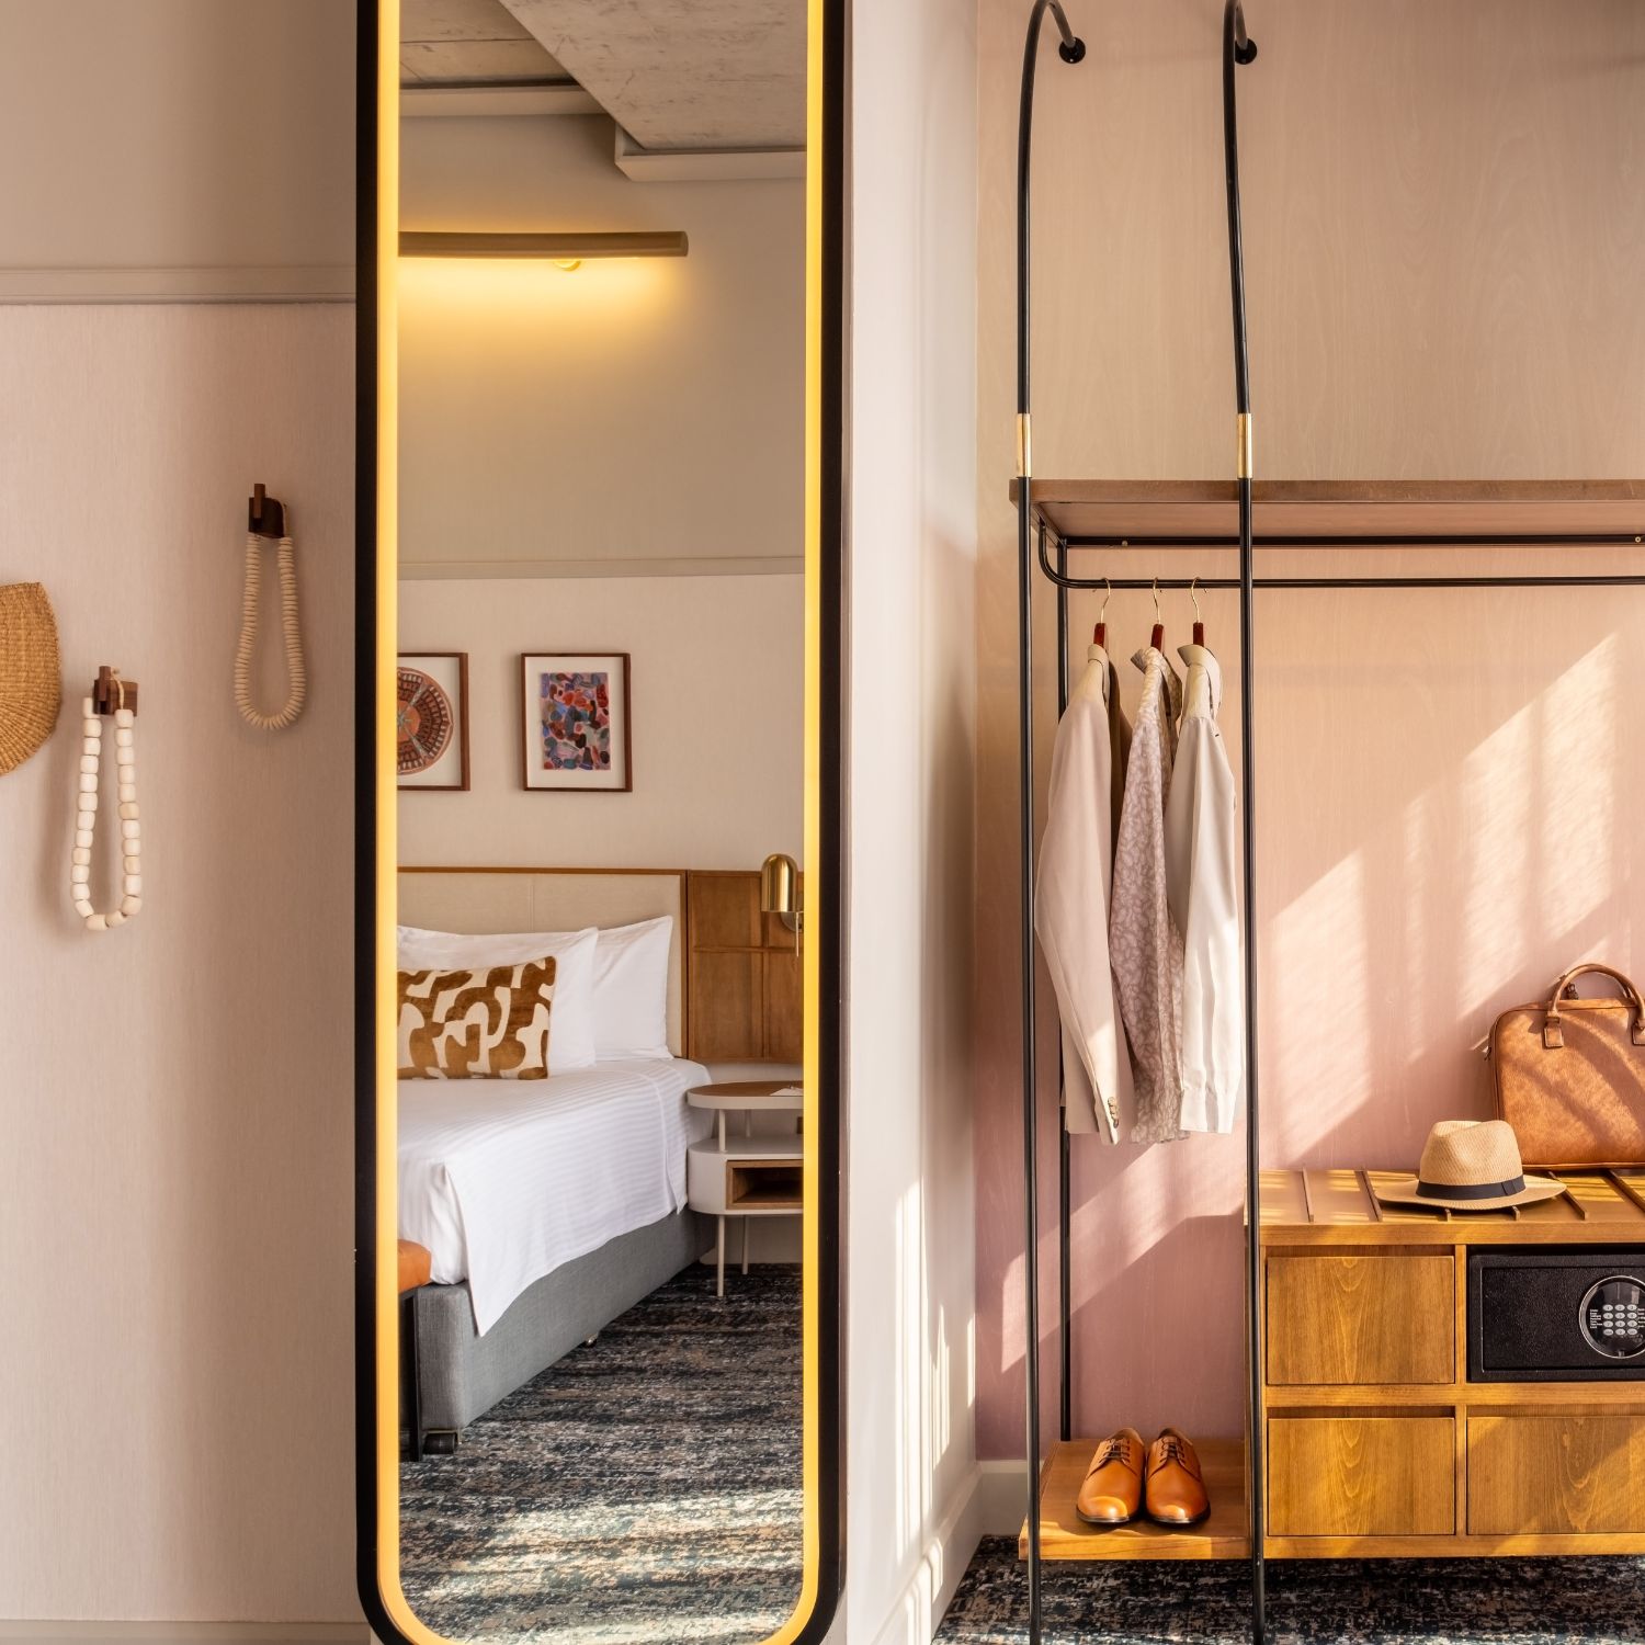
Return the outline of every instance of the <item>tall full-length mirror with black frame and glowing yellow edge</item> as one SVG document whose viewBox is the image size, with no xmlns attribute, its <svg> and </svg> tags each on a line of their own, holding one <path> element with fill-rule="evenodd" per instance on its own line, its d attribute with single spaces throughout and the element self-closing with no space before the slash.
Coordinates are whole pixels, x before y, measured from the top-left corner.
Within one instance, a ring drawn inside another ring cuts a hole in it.
<svg viewBox="0 0 1645 1645">
<path fill-rule="evenodd" d="M 362 1584 L 410 1638 L 819 1637 L 826 18 L 372 23 Z"/>
</svg>

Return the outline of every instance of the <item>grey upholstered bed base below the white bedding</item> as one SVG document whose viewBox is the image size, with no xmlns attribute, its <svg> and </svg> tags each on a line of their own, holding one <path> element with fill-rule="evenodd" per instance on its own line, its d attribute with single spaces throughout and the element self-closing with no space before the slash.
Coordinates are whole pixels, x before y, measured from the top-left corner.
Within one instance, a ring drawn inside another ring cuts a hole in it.
<svg viewBox="0 0 1645 1645">
<path fill-rule="evenodd" d="M 707 1249 L 696 1211 L 678 1211 L 568 1262 L 521 1291 L 485 1336 L 467 1285 L 413 1295 L 424 1433 L 459 1431 L 688 1268 Z"/>
</svg>

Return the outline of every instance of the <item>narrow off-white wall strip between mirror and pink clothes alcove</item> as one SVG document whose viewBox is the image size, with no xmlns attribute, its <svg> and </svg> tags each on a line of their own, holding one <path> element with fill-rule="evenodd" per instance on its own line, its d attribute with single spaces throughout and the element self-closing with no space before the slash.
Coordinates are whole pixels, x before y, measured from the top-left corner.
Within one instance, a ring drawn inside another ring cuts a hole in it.
<svg viewBox="0 0 1645 1645">
<path fill-rule="evenodd" d="M 979 1530 L 972 1438 L 975 36 L 852 16 L 849 1573 L 923 1645 Z"/>
</svg>

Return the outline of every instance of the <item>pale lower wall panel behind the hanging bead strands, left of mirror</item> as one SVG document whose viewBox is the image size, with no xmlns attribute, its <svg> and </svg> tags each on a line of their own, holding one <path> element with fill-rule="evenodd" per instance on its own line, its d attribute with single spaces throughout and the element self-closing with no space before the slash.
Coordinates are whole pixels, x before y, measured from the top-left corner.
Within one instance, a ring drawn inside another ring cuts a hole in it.
<svg viewBox="0 0 1645 1645">
<path fill-rule="evenodd" d="M 0 582 L 46 584 L 66 674 L 0 778 L 5 1617 L 359 1615 L 352 341 L 345 308 L 0 308 Z M 258 479 L 298 523 L 280 734 L 230 697 Z M 145 906 L 105 936 L 64 892 L 99 663 L 141 684 Z"/>
</svg>

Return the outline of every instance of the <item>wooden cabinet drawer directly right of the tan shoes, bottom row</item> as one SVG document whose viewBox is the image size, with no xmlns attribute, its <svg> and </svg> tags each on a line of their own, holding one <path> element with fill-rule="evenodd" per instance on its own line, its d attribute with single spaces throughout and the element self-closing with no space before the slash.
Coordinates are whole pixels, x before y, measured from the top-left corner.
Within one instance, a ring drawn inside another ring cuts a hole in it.
<svg viewBox="0 0 1645 1645">
<path fill-rule="evenodd" d="M 1449 1416 L 1275 1416 L 1268 1421 L 1273 1536 L 1451 1536 L 1456 1421 Z"/>
</svg>

